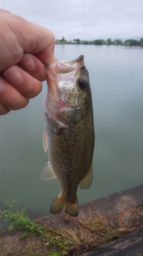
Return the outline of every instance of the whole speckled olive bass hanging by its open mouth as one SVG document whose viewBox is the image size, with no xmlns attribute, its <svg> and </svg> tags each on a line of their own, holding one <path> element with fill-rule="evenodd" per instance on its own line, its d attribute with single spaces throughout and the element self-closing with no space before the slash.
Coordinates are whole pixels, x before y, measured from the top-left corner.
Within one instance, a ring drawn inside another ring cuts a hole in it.
<svg viewBox="0 0 143 256">
<path fill-rule="evenodd" d="M 93 180 L 94 121 L 89 72 L 84 56 L 45 63 L 48 93 L 44 100 L 44 151 L 49 162 L 41 179 L 58 179 L 61 193 L 51 214 L 78 216 L 77 188 L 88 189 Z"/>
</svg>

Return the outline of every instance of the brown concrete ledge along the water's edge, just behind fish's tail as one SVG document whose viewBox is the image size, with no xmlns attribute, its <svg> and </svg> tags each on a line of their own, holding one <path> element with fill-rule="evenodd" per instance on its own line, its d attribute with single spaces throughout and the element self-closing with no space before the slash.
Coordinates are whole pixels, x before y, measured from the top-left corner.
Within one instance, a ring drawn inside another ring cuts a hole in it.
<svg viewBox="0 0 143 256">
<path fill-rule="evenodd" d="M 132 207 L 136 207 L 143 204 L 143 185 L 139 185 L 133 188 L 123 190 L 119 193 L 115 193 L 88 203 L 79 205 L 78 219 L 88 218 L 89 212 L 92 216 L 97 215 L 97 212 L 105 218 L 118 214 L 122 210 L 128 210 Z M 62 226 L 65 228 L 70 227 L 71 221 L 65 221 L 64 212 L 58 215 L 47 215 L 41 218 L 45 223 L 53 223 L 52 227 L 56 228 Z M 73 220 L 72 220 L 73 223 Z"/>
</svg>

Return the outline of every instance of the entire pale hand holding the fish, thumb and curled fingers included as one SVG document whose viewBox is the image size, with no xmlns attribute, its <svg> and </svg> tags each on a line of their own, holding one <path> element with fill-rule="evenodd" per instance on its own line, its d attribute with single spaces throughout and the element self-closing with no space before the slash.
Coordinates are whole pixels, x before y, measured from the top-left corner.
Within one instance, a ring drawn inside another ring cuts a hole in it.
<svg viewBox="0 0 143 256">
<path fill-rule="evenodd" d="M 44 62 L 53 63 L 55 37 L 39 25 L 0 9 L 0 115 L 24 108 L 42 90 Z"/>
</svg>

